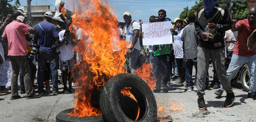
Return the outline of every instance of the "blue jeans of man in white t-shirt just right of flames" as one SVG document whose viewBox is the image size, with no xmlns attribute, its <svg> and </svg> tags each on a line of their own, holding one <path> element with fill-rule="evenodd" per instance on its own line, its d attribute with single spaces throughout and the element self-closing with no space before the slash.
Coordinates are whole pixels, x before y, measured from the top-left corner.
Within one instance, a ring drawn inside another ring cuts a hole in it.
<svg viewBox="0 0 256 122">
<path fill-rule="evenodd" d="M 129 65 L 132 72 L 135 72 L 137 69 L 137 60 L 141 51 L 138 49 L 133 48 L 133 52 L 131 54 L 126 54 L 127 58 L 129 59 Z"/>
</svg>

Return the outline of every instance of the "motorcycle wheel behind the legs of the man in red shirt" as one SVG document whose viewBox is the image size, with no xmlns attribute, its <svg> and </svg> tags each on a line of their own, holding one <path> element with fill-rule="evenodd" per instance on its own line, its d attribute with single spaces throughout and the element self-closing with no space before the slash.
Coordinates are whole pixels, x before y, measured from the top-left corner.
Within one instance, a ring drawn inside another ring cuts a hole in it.
<svg viewBox="0 0 256 122">
<path fill-rule="evenodd" d="M 243 89 L 245 89 L 246 91 L 249 91 L 249 83 L 250 83 L 250 77 L 249 77 L 249 69 L 246 68 L 246 66 L 243 66 L 242 70 L 241 70 L 241 74 L 240 74 L 240 80 L 241 80 L 241 84 L 243 86 Z"/>
</svg>

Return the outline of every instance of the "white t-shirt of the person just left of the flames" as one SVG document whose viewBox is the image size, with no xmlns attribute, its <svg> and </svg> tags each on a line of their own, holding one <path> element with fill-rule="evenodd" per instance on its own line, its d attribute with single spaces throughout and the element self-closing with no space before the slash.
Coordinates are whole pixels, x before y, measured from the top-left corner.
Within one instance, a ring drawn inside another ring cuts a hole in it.
<svg viewBox="0 0 256 122">
<path fill-rule="evenodd" d="M 59 41 L 62 41 L 64 39 L 64 33 L 65 33 L 65 30 L 59 32 L 59 37 L 60 37 Z M 68 41 L 68 45 L 63 44 L 60 47 L 59 60 L 61 61 L 71 60 L 74 57 L 74 50 L 75 50 L 75 47 L 72 45 L 71 41 Z"/>
</svg>

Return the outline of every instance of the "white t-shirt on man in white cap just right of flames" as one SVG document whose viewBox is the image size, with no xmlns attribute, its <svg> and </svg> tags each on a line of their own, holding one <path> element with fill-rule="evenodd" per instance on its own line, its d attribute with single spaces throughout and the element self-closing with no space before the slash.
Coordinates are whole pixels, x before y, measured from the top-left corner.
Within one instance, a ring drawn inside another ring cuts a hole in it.
<svg viewBox="0 0 256 122">
<path fill-rule="evenodd" d="M 133 29 L 131 28 L 131 24 L 129 25 L 128 28 L 126 26 L 123 28 L 123 31 L 125 32 L 125 37 L 126 37 L 125 41 L 127 43 L 128 48 L 131 47 L 131 43 L 133 41 L 133 31 L 134 30 L 139 30 L 139 33 L 141 33 L 141 25 L 138 22 L 133 23 Z M 137 43 L 134 45 L 134 48 L 141 51 L 141 45 L 139 45 L 139 37 L 138 37 Z"/>
</svg>

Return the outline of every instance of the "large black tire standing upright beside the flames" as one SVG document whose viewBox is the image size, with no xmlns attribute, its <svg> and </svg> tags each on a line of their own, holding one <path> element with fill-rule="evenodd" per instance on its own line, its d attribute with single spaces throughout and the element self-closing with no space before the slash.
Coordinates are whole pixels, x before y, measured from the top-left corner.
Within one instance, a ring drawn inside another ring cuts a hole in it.
<svg viewBox="0 0 256 122">
<path fill-rule="evenodd" d="M 118 74 L 110 78 L 101 90 L 100 109 L 104 121 L 135 121 L 128 117 L 122 110 L 121 105 L 118 104 L 121 90 L 125 87 L 131 87 L 131 94 L 138 102 L 139 116 L 136 121 L 156 121 L 157 105 L 153 92 L 143 79 L 130 73 Z M 129 108 L 133 107 L 129 106 Z"/>
</svg>

